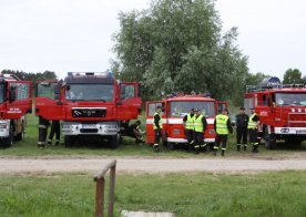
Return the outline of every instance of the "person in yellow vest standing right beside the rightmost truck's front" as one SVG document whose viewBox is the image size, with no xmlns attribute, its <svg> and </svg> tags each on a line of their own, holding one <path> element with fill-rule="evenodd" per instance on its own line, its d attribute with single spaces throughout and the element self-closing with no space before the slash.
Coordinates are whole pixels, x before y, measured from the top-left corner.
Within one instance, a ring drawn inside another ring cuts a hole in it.
<svg viewBox="0 0 306 217">
<path fill-rule="evenodd" d="M 253 153 L 258 153 L 258 140 L 257 140 L 257 128 L 259 125 L 259 116 L 255 113 L 254 107 L 249 108 L 251 111 L 251 116 L 248 117 L 248 124 L 247 124 L 247 130 L 248 130 L 248 138 L 249 143 L 253 146 Z"/>
</svg>

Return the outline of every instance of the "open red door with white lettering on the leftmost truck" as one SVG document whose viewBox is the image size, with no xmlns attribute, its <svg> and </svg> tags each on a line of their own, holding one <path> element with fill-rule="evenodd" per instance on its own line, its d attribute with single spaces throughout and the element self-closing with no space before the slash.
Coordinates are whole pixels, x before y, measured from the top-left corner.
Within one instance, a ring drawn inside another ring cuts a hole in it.
<svg viewBox="0 0 306 217">
<path fill-rule="evenodd" d="M 6 118 L 20 118 L 32 111 L 32 82 L 9 81 L 7 90 Z"/>
</svg>

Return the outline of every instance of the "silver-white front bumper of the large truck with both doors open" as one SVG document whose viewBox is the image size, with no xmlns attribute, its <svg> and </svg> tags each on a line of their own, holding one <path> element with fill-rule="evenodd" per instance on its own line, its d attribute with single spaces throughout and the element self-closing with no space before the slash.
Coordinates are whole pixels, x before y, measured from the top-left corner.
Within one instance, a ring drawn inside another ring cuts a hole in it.
<svg viewBox="0 0 306 217">
<path fill-rule="evenodd" d="M 63 135 L 116 135 L 120 131 L 118 122 L 63 122 Z"/>
</svg>

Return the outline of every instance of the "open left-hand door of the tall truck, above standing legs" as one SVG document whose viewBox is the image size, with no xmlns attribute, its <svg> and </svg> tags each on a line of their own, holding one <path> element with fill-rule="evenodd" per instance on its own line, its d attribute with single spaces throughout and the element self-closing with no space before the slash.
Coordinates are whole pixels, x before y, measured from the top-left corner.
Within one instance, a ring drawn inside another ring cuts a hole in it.
<svg viewBox="0 0 306 217">
<path fill-rule="evenodd" d="M 35 114 L 45 120 L 62 120 L 61 86 L 57 82 L 37 84 Z"/>
</svg>

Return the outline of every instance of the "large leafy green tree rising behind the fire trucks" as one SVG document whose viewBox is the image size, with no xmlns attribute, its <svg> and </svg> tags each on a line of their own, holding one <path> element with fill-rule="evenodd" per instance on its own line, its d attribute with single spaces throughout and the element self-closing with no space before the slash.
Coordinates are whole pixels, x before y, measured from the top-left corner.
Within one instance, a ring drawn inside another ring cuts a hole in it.
<svg viewBox="0 0 306 217">
<path fill-rule="evenodd" d="M 235 44 L 235 28 L 222 33 L 214 1 L 152 0 L 147 10 L 120 13 L 120 24 L 112 70 L 122 80 L 143 82 L 147 97 L 208 91 L 241 99 L 247 58 Z"/>
</svg>

